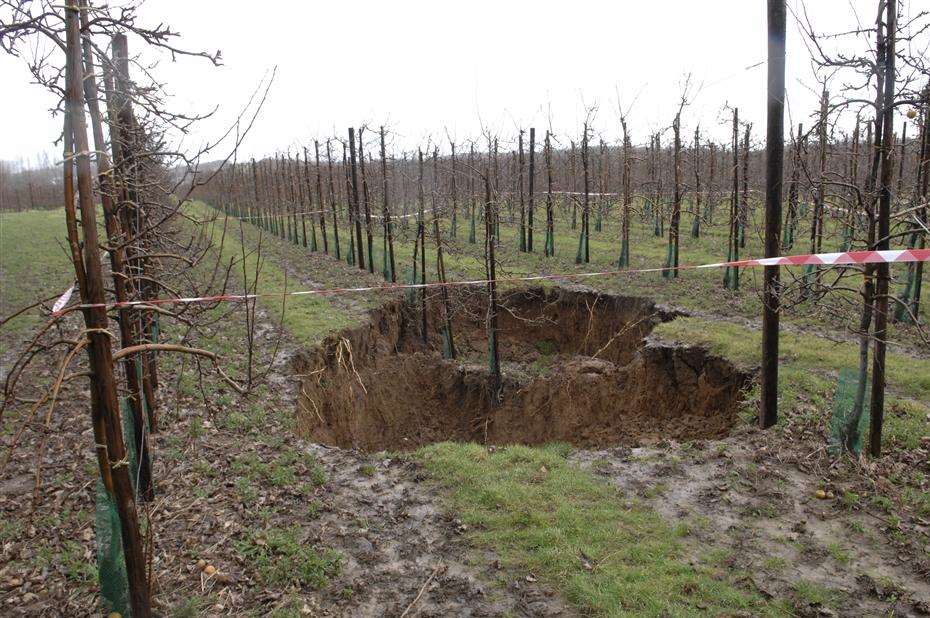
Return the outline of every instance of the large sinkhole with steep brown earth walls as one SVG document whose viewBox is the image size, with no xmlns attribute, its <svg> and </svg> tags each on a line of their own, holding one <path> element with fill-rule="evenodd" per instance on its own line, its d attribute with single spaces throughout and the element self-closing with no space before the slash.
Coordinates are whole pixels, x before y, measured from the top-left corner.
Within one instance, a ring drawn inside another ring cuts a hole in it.
<svg viewBox="0 0 930 618">
<path fill-rule="evenodd" d="M 501 298 L 502 384 L 492 388 L 486 298 L 457 290 L 456 356 L 439 298 L 397 300 L 295 355 L 298 428 L 323 444 L 409 450 L 443 440 L 636 445 L 718 438 L 749 375 L 707 351 L 650 338 L 675 313 L 636 297 L 524 288 Z"/>
</svg>

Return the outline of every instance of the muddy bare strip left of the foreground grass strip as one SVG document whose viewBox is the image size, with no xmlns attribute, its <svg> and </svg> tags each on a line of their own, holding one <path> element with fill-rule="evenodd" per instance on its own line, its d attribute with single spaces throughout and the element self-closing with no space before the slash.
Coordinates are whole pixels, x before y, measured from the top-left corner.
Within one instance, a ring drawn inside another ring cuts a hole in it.
<svg viewBox="0 0 930 618">
<path fill-rule="evenodd" d="M 327 615 L 572 616 L 552 590 L 495 568 L 493 556 L 469 554 L 465 526 L 442 509 L 409 460 L 310 447 L 330 474 L 326 512 L 309 534 L 344 556 L 330 588 L 351 591 Z M 480 558 L 480 559 L 479 559 Z M 503 585 L 501 585 L 503 584 Z"/>
</svg>

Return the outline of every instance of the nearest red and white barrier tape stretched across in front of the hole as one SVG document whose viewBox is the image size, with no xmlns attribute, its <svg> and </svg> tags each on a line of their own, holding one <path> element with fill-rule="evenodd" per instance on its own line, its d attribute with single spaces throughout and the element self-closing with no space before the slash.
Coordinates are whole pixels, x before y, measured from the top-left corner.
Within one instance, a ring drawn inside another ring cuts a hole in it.
<svg viewBox="0 0 930 618">
<path fill-rule="evenodd" d="M 586 273 L 561 273 L 555 275 L 528 275 L 524 277 L 499 277 L 497 283 L 517 283 L 520 281 L 552 281 L 561 279 L 587 279 L 591 277 L 608 277 L 623 274 L 655 273 L 668 270 L 697 270 L 702 268 L 748 268 L 753 266 L 802 266 L 802 265 L 849 265 L 849 264 L 881 264 L 891 262 L 930 262 L 930 249 L 902 249 L 886 251 L 847 251 L 844 253 L 814 253 L 803 255 L 789 255 L 774 258 L 758 258 L 751 260 L 737 260 L 733 262 L 715 262 L 713 264 L 697 264 L 677 266 L 674 268 L 625 268 L 622 270 L 605 270 Z M 465 281 L 446 281 L 445 283 L 385 283 L 352 288 L 328 288 L 325 290 L 299 290 L 296 292 L 269 292 L 262 294 L 220 294 L 216 296 L 197 296 L 193 298 L 158 298 L 153 300 L 133 300 L 112 304 L 72 305 L 65 307 L 74 291 L 72 285 L 52 307 L 52 315 L 60 315 L 66 311 L 91 308 L 123 308 L 146 307 L 152 305 L 184 305 L 193 303 L 213 302 L 242 302 L 258 298 L 280 298 L 283 296 L 329 296 L 335 294 L 352 294 L 362 292 L 392 292 L 400 290 L 419 290 L 434 287 L 478 286 L 490 283 L 488 279 L 471 279 Z"/>
</svg>

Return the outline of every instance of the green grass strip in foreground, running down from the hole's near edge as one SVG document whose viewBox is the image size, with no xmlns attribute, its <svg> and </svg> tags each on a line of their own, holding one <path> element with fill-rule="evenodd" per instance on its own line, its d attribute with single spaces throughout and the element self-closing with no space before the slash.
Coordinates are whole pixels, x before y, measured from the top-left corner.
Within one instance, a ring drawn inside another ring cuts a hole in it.
<svg viewBox="0 0 930 618">
<path fill-rule="evenodd" d="M 470 539 L 534 574 L 586 614 L 776 615 L 711 565 L 690 564 L 676 528 L 571 465 L 569 447 L 442 443 L 417 452 Z"/>
</svg>

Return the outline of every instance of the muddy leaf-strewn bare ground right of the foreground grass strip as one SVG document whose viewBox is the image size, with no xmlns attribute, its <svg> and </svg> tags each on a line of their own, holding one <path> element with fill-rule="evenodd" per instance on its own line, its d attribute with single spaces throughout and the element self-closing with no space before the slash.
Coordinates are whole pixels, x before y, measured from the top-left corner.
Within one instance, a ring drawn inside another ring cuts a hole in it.
<svg viewBox="0 0 930 618">
<path fill-rule="evenodd" d="M 868 494 L 850 493 L 771 432 L 743 428 L 719 441 L 578 451 L 573 459 L 684 526 L 695 560 L 744 573 L 747 586 L 791 600 L 797 615 L 930 612 L 925 557 L 889 541 L 889 518 L 868 506 Z"/>
</svg>

